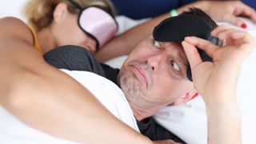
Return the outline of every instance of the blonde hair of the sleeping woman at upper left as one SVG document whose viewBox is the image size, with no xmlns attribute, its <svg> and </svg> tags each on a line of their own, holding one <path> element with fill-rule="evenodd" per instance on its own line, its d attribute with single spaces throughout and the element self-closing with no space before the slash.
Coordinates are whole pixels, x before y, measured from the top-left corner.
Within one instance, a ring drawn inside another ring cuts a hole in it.
<svg viewBox="0 0 256 144">
<path fill-rule="evenodd" d="M 104 7 L 108 13 L 114 16 L 114 6 L 109 0 L 73 0 L 82 8 L 86 6 L 94 6 L 96 2 L 103 2 Z M 42 30 L 42 28 L 49 26 L 54 18 L 54 9 L 60 2 L 65 2 L 68 6 L 68 10 L 72 14 L 78 14 L 79 10 L 68 0 L 30 0 L 26 3 L 23 9 L 28 25 L 31 26 L 35 31 Z"/>
</svg>

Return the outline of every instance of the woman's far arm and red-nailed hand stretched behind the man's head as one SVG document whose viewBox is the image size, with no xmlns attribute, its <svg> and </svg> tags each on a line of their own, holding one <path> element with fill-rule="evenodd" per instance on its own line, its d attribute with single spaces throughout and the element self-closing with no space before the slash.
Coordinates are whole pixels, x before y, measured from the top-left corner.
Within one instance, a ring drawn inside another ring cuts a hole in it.
<svg viewBox="0 0 256 144">
<path fill-rule="evenodd" d="M 246 6 L 240 1 L 198 1 L 187 4 L 178 8 L 178 14 L 190 7 L 198 7 L 209 14 L 214 20 L 220 22 L 230 22 L 235 26 L 242 26 L 243 22 L 239 16 L 248 17 L 253 22 L 256 22 L 256 12 L 249 6 Z M 117 36 L 102 47 L 94 56 L 98 62 L 106 62 L 111 58 L 116 58 L 121 55 L 130 54 L 142 39 L 148 37 L 153 30 L 163 19 L 170 17 L 170 14 L 162 14 L 158 17 L 150 19 L 141 25 L 127 30 L 124 34 Z"/>
</svg>

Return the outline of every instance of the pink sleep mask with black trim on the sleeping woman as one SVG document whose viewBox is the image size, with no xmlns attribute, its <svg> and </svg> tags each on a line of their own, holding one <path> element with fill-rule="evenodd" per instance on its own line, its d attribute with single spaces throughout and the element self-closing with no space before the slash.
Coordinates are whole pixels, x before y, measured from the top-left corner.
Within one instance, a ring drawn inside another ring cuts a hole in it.
<svg viewBox="0 0 256 144">
<path fill-rule="evenodd" d="M 97 50 L 114 37 L 118 31 L 118 23 L 109 13 L 98 6 L 88 6 L 82 9 L 72 0 L 69 0 L 81 12 L 78 16 L 78 25 L 97 42 Z"/>
</svg>

